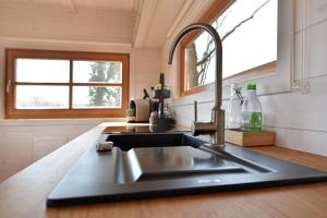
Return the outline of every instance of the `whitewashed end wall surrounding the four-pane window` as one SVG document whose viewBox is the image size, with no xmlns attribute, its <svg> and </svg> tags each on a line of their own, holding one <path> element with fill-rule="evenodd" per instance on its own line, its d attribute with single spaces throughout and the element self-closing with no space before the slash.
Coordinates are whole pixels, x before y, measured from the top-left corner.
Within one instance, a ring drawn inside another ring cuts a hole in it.
<svg viewBox="0 0 327 218">
<path fill-rule="evenodd" d="M 134 49 L 133 16 L 59 9 L 0 8 L 0 181 L 104 121 L 122 119 L 4 120 L 5 48 L 130 53 L 130 98 L 159 78 L 160 50 Z"/>
</svg>

